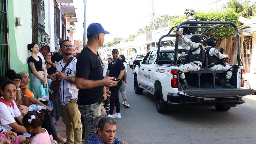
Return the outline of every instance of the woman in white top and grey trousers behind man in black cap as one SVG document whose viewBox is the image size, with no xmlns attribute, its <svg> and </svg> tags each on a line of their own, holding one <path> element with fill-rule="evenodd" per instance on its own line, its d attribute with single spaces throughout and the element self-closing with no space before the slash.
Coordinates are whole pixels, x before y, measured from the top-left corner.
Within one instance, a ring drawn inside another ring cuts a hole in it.
<svg viewBox="0 0 256 144">
<path fill-rule="evenodd" d="M 123 54 L 120 54 L 118 57 L 121 61 L 123 61 L 124 67 L 125 67 L 125 71 L 124 71 L 124 77 L 123 77 L 123 83 L 120 87 L 120 92 L 121 95 L 123 97 L 123 103 L 122 105 L 124 105 L 125 107 L 130 107 L 129 103 L 127 102 L 127 96 L 126 96 L 126 91 L 125 91 L 125 84 L 127 83 L 127 62 L 125 61 L 125 57 Z"/>
</svg>

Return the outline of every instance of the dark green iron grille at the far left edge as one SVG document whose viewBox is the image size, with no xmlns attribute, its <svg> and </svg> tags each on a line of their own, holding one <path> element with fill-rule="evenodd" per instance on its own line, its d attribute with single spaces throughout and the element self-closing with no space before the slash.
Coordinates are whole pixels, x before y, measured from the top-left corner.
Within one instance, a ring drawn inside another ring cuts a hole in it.
<svg viewBox="0 0 256 144">
<path fill-rule="evenodd" d="M 0 75 L 4 75 L 9 68 L 6 2 L 7 0 L 0 0 Z"/>
</svg>

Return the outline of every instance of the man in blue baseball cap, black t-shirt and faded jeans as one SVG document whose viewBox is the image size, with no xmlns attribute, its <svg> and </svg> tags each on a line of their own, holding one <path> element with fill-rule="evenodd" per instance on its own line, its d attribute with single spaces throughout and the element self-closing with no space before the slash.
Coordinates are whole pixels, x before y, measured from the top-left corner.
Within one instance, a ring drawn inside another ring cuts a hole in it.
<svg viewBox="0 0 256 144">
<path fill-rule="evenodd" d="M 106 87 L 115 86 L 114 77 L 103 77 L 103 62 L 97 50 L 103 45 L 105 31 L 101 24 L 92 23 L 87 28 L 87 46 L 80 53 L 76 62 L 76 87 L 78 92 L 78 106 L 81 112 L 85 139 L 97 131 L 97 125 L 104 115 L 103 100 L 106 99 Z"/>
</svg>

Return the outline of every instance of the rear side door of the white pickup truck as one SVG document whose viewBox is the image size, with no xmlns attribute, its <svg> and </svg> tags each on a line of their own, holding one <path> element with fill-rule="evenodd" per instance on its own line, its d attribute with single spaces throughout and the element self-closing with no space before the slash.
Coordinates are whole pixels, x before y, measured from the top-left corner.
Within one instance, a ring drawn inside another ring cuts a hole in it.
<svg viewBox="0 0 256 144">
<path fill-rule="evenodd" d="M 157 56 L 157 51 L 152 51 L 148 58 L 148 63 L 145 65 L 143 74 L 144 74 L 144 79 L 145 79 L 145 84 L 147 87 L 148 91 L 154 92 L 154 84 L 153 84 L 153 79 L 154 79 L 154 71 L 153 71 L 153 64 L 155 57 Z"/>
</svg>

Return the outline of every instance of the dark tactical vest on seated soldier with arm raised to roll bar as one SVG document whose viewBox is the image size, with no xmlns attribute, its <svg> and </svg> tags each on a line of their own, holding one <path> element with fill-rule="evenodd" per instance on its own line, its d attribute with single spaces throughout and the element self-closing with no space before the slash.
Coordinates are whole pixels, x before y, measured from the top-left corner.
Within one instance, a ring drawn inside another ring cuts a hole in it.
<svg viewBox="0 0 256 144">
<path fill-rule="evenodd" d="M 195 52 L 199 48 L 200 48 L 199 54 L 192 54 L 192 52 Z M 185 58 L 186 58 L 187 63 L 193 62 L 193 61 L 201 61 L 202 63 L 204 63 L 204 57 L 205 57 L 204 49 L 201 45 L 199 45 L 199 47 L 194 50 L 192 50 L 192 48 L 190 48 L 188 55 Z"/>
</svg>

